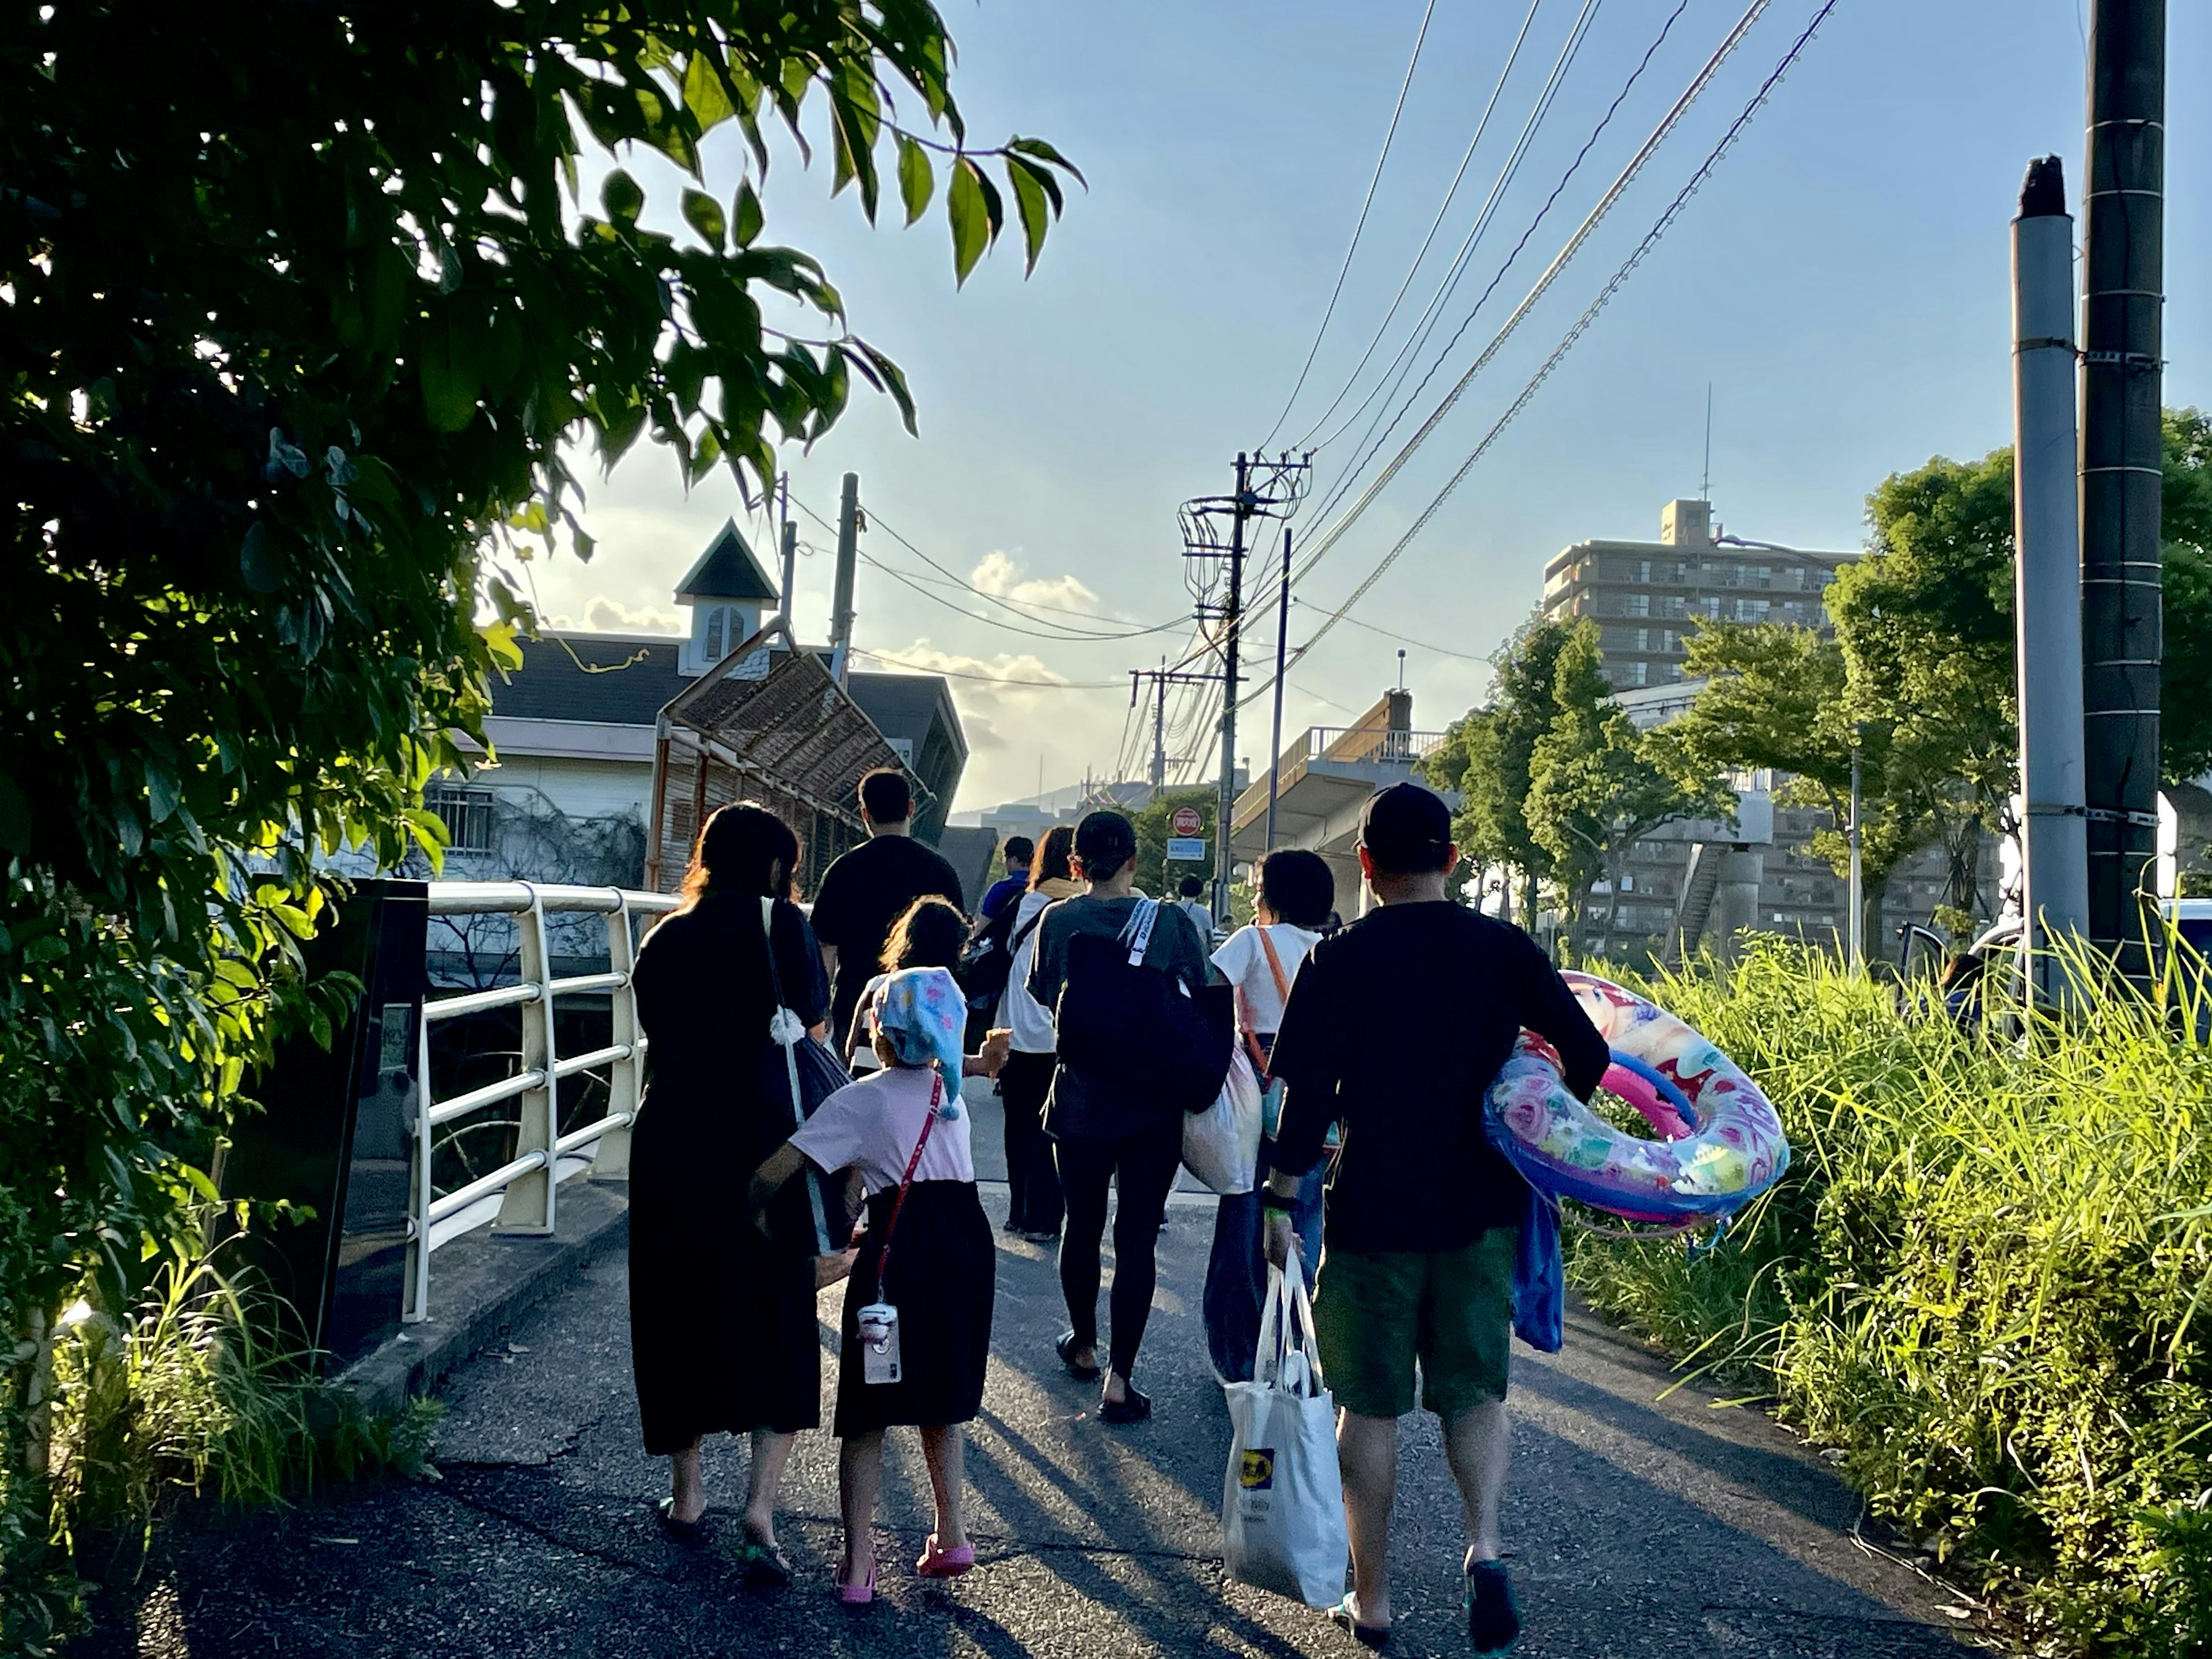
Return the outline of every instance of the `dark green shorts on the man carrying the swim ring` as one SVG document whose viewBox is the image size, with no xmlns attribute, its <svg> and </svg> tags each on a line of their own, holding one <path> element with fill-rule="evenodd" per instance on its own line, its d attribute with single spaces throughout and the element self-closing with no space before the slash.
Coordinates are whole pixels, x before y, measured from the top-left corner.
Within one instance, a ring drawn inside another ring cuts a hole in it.
<svg viewBox="0 0 2212 1659">
<path fill-rule="evenodd" d="M 1402 1418 L 1420 1402 L 1455 1418 L 1506 1398 L 1513 1252 L 1520 1228 L 1460 1250 L 1327 1250 L 1314 1281 L 1314 1340 L 1336 1405 Z"/>
</svg>

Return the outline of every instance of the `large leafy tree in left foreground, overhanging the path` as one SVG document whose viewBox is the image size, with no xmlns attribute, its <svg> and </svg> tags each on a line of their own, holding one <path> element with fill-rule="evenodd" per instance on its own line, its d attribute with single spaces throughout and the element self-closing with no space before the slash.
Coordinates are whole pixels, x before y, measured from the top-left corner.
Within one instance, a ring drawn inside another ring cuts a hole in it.
<svg viewBox="0 0 2212 1659">
<path fill-rule="evenodd" d="M 0 31 L 0 1321 L 7 1639 L 38 1559 L 42 1334 L 128 1294 L 272 1020 L 303 998 L 316 854 L 398 858 L 529 626 L 513 566 L 591 555 L 568 456 L 639 436 L 765 489 L 896 363 L 765 239 L 772 128 L 964 279 L 1031 261 L 1073 175 L 969 148 L 927 0 L 24 9 Z M 739 137 L 708 188 L 703 139 Z M 688 175 L 646 212 L 611 166 Z M 993 181 L 993 175 L 998 181 Z M 812 319 L 812 321 L 810 321 Z M 480 617 L 491 622 L 480 626 Z"/>
</svg>

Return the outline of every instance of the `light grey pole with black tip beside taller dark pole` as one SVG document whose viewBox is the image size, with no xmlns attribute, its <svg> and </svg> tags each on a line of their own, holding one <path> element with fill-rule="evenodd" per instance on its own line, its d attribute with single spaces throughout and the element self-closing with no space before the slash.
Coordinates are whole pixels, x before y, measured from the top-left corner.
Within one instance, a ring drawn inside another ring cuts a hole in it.
<svg viewBox="0 0 2212 1659">
<path fill-rule="evenodd" d="M 2020 677 L 2020 967 L 2057 991 L 2042 945 L 2088 933 L 2081 816 L 2081 522 L 2075 493 L 2073 215 L 2055 155 L 2013 219 L 2013 615 Z"/>
</svg>

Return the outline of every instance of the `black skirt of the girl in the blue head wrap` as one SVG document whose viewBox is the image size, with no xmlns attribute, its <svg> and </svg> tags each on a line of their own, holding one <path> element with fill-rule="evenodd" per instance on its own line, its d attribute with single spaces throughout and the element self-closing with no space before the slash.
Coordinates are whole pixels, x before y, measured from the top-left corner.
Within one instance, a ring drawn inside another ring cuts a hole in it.
<svg viewBox="0 0 2212 1659">
<path fill-rule="evenodd" d="M 845 1336 L 838 1349 L 838 1438 L 894 1425 L 940 1429 L 982 1409 L 991 1358 L 991 1298 L 998 1248 L 973 1181 L 916 1181 L 898 1212 L 891 1279 L 876 1267 L 891 1219 L 885 1188 L 867 1201 L 867 1237 L 845 1283 Z M 885 1301 L 898 1310 L 898 1383 L 867 1383 L 860 1363 L 858 1310 Z"/>
</svg>

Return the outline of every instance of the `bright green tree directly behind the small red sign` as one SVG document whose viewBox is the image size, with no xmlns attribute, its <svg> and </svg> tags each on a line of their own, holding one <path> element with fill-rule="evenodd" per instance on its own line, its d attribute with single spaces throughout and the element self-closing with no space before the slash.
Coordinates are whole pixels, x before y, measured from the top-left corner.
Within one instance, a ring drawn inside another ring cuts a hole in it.
<svg viewBox="0 0 2212 1659">
<path fill-rule="evenodd" d="M 1646 734 L 1613 701 L 1599 653 L 1597 624 L 1568 626 L 1553 670 L 1553 719 L 1528 757 L 1524 816 L 1537 845 L 1553 860 L 1553 876 L 1568 900 L 1577 936 L 1593 953 L 1613 945 L 1621 878 L 1635 845 L 1683 818 L 1732 818 L 1736 796 L 1719 772 L 1699 779 L 1670 768 L 1672 754 L 1657 732 Z M 1588 929 L 1595 883 L 1606 883 L 1606 911 Z"/>
</svg>

